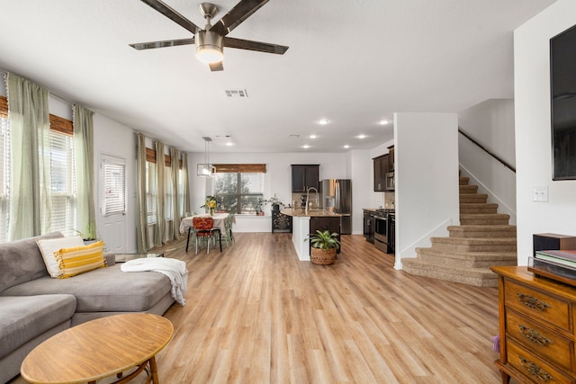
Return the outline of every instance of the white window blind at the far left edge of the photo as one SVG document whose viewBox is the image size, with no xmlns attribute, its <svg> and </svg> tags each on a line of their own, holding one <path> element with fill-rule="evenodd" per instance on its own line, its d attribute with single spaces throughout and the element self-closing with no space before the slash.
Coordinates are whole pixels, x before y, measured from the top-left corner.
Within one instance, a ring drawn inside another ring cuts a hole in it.
<svg viewBox="0 0 576 384">
<path fill-rule="evenodd" d="M 0 243 L 8 239 L 10 213 L 10 129 L 8 119 L 0 117 Z"/>
</svg>

